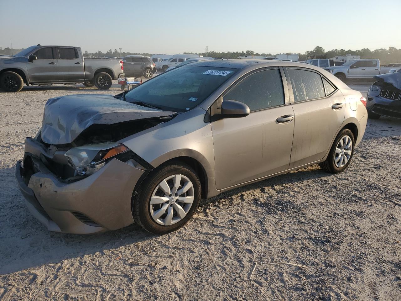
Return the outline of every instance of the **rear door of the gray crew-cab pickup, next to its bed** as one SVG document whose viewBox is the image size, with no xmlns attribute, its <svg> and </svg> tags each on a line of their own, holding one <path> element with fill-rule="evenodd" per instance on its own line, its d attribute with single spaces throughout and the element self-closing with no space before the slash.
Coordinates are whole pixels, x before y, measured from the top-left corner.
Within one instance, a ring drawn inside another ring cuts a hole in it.
<svg viewBox="0 0 401 301">
<path fill-rule="evenodd" d="M 58 81 L 83 81 L 85 72 L 79 51 L 72 47 L 57 47 Z"/>
</svg>

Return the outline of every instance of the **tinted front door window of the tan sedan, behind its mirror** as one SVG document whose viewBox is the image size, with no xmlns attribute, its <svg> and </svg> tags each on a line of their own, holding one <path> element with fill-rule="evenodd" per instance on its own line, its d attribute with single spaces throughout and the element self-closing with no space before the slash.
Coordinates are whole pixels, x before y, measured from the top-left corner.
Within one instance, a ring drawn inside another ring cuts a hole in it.
<svg viewBox="0 0 401 301">
<path fill-rule="evenodd" d="M 249 106 L 252 111 L 284 104 L 283 84 L 278 69 L 252 73 L 237 83 L 224 100 L 236 100 Z"/>
</svg>

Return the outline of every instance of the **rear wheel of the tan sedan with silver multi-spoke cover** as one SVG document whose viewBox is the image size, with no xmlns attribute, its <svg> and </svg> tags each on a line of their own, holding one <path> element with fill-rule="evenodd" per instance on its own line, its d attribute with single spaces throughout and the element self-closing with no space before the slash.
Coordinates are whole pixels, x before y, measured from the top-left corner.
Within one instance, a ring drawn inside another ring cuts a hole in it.
<svg viewBox="0 0 401 301">
<path fill-rule="evenodd" d="M 340 173 L 350 164 L 354 154 L 354 134 L 347 128 L 338 133 L 326 161 L 319 163 L 321 169 L 329 173 Z"/>
</svg>

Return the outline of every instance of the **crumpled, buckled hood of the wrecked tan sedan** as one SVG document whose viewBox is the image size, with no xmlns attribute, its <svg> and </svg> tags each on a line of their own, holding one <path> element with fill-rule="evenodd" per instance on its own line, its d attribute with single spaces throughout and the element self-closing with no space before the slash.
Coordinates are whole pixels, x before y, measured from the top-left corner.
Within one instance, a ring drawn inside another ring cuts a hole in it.
<svg viewBox="0 0 401 301">
<path fill-rule="evenodd" d="M 174 113 L 131 104 L 111 95 L 62 96 L 47 101 L 41 137 L 48 144 L 67 144 L 92 124 L 115 124 Z"/>
</svg>

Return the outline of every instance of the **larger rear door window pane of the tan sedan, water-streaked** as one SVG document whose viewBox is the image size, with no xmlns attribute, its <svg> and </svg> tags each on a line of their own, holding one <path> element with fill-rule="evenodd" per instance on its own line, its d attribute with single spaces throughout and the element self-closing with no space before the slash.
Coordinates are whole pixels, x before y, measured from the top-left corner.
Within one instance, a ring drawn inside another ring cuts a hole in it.
<svg viewBox="0 0 401 301">
<path fill-rule="evenodd" d="M 326 96 L 320 74 L 304 69 L 287 69 L 287 71 L 290 75 L 295 102 Z"/>
</svg>

